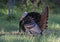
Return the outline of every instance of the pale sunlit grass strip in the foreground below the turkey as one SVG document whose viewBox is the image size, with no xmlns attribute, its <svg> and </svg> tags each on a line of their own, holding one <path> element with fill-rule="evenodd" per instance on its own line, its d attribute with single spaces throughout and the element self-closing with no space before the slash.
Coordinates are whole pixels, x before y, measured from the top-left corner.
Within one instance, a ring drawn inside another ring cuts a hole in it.
<svg viewBox="0 0 60 42">
<path fill-rule="evenodd" d="M 4 35 L 0 37 L 0 42 L 60 42 L 60 35 L 55 35 L 55 33 L 34 37 L 28 35 Z"/>
</svg>

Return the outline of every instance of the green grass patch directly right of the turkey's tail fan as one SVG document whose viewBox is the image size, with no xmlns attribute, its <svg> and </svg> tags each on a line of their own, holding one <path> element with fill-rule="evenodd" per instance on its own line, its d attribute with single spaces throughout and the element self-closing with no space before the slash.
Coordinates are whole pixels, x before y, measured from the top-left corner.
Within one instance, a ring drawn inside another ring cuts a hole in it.
<svg viewBox="0 0 60 42">
<path fill-rule="evenodd" d="M 49 15 L 48 28 L 60 30 L 60 14 L 50 14 Z"/>
</svg>

